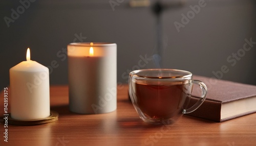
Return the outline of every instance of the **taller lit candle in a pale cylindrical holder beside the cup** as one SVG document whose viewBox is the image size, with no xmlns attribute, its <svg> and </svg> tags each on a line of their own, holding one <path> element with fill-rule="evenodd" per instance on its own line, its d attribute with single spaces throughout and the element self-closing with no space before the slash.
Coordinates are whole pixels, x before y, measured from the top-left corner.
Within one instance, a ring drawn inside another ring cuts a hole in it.
<svg viewBox="0 0 256 146">
<path fill-rule="evenodd" d="M 81 114 L 116 110 L 117 50 L 115 43 L 68 45 L 69 107 Z"/>
</svg>

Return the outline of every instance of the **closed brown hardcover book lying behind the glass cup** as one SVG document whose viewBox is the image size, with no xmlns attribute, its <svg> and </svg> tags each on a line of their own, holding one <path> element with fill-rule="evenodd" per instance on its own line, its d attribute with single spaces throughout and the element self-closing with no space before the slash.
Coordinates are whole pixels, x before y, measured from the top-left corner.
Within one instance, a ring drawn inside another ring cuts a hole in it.
<svg viewBox="0 0 256 146">
<path fill-rule="evenodd" d="M 208 93 L 204 103 L 188 115 L 221 122 L 256 112 L 256 86 L 202 76 L 193 79 L 204 82 Z M 189 106 L 200 96 L 201 89 L 194 85 Z"/>
</svg>

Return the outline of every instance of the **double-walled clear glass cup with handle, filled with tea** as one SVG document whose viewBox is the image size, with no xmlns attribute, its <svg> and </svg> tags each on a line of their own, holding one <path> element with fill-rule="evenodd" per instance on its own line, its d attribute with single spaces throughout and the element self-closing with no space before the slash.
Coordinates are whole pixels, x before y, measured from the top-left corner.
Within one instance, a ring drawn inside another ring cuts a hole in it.
<svg viewBox="0 0 256 146">
<path fill-rule="evenodd" d="M 187 109 L 193 85 L 202 89 L 201 99 Z M 167 125 L 195 111 L 207 94 L 206 85 L 192 79 L 189 71 L 142 69 L 130 72 L 129 94 L 140 118 L 146 123 Z"/>
</svg>

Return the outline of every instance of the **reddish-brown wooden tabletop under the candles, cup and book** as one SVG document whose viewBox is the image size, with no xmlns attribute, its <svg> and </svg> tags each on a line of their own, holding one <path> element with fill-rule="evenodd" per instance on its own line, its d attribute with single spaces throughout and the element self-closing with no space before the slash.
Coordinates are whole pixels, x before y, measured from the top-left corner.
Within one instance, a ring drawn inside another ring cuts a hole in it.
<svg viewBox="0 0 256 146">
<path fill-rule="evenodd" d="M 53 123 L 36 126 L 0 125 L 0 145 L 256 145 L 256 113 L 217 123 L 184 115 L 168 126 L 145 124 L 128 100 L 127 85 L 118 89 L 117 110 L 82 115 L 69 111 L 68 86 L 51 86 Z M 1 92 L 0 115 L 4 114 Z"/>
</svg>

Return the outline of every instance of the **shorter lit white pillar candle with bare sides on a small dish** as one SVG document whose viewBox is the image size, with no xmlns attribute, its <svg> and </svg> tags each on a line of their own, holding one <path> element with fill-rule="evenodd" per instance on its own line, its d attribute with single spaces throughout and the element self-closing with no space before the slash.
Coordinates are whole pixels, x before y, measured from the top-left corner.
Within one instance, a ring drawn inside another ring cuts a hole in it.
<svg viewBox="0 0 256 146">
<path fill-rule="evenodd" d="M 49 69 L 30 60 L 10 68 L 11 117 L 19 120 L 50 116 Z"/>
</svg>

